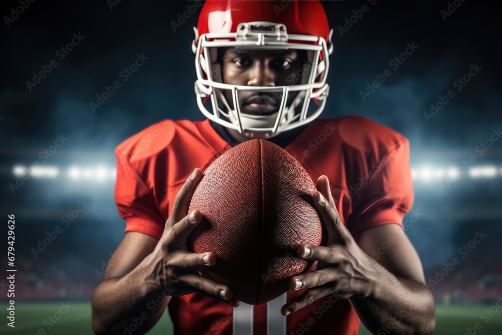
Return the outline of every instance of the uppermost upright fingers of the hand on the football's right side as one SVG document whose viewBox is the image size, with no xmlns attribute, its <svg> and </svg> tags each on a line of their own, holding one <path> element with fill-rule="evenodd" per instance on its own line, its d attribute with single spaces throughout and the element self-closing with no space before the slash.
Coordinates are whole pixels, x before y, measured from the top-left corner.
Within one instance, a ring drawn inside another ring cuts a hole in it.
<svg viewBox="0 0 502 335">
<path fill-rule="evenodd" d="M 317 179 L 317 189 L 318 192 L 315 192 L 312 198 L 328 232 L 328 246 L 334 242 L 348 241 L 351 235 L 343 225 L 340 215 L 336 210 L 326 176 L 320 176 Z"/>
</svg>

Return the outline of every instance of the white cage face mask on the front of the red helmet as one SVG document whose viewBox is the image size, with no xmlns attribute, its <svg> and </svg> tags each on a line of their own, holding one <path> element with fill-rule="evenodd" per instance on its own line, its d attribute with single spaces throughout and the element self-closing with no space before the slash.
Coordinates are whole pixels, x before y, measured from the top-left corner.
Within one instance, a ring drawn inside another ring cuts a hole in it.
<svg viewBox="0 0 502 335">
<path fill-rule="evenodd" d="M 330 41 L 328 41 L 330 45 L 328 49 L 327 43 L 322 37 L 288 35 L 286 26 L 270 22 L 241 23 L 239 27 L 242 27 L 242 31 L 237 33 L 203 34 L 200 36 L 198 44 L 195 43 L 198 38 L 196 34 L 196 39 L 192 44 L 197 73 L 195 93 L 202 114 L 217 124 L 254 139 L 269 139 L 315 120 L 321 114 L 329 92 L 326 75 L 329 67 L 328 56 L 332 51 Z M 267 29 L 258 29 L 256 27 Z M 330 38 L 331 35 L 332 31 L 330 32 Z M 263 47 L 264 50 L 267 50 L 267 48 L 269 50 L 271 48 L 277 50 L 302 49 L 307 50 L 312 55 L 309 58 L 314 65 L 312 70 L 305 71 L 302 82 L 296 85 L 268 87 L 225 84 L 222 82 L 221 77 L 217 77 L 219 71 L 213 71 L 212 68 L 212 64 L 215 64 L 216 48 L 220 47 Z M 320 57 L 321 53 L 324 55 L 322 59 Z M 230 108 L 229 101 L 225 101 L 222 94 L 223 90 L 231 91 L 234 101 L 237 100 L 235 96 L 241 91 L 275 91 L 281 94 L 283 103 L 281 103 L 279 111 L 272 115 L 258 116 L 240 113 L 239 120 L 237 111 Z M 287 103 L 290 94 L 297 94 L 298 99 Z M 312 113 L 309 111 L 311 101 L 315 102 Z M 218 102 L 223 102 L 226 110 L 221 109 Z M 209 110 L 207 107 L 209 107 Z"/>
</svg>

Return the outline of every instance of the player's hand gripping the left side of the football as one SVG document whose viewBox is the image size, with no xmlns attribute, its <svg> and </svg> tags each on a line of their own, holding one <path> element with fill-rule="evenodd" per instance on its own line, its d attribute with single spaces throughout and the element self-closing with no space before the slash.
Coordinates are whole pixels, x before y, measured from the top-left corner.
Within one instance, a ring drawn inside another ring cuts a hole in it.
<svg viewBox="0 0 502 335">
<path fill-rule="evenodd" d="M 236 307 L 240 301 L 232 298 L 232 291 L 228 286 L 215 283 L 197 270 L 198 267 L 215 265 L 216 256 L 213 253 L 191 253 L 186 247 L 190 233 L 202 219 L 202 214 L 197 209 L 187 215 L 190 201 L 202 175 L 202 170 L 196 168 L 176 196 L 162 238 L 153 252 L 156 253 L 157 260 L 156 280 L 161 287 L 170 287 L 170 295 L 200 292 Z"/>
</svg>

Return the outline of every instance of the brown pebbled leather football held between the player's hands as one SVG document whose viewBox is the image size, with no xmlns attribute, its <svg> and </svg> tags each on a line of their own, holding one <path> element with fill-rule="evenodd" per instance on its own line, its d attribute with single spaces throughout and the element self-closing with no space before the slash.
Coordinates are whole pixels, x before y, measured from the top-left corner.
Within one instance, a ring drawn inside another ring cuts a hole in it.
<svg viewBox="0 0 502 335">
<path fill-rule="evenodd" d="M 288 279 L 312 266 L 296 256 L 298 246 L 323 244 L 315 192 L 300 163 L 272 142 L 250 140 L 225 152 L 207 168 L 190 203 L 189 212 L 197 208 L 204 219 L 189 244 L 217 257 L 200 271 L 247 304 L 286 292 Z"/>
</svg>

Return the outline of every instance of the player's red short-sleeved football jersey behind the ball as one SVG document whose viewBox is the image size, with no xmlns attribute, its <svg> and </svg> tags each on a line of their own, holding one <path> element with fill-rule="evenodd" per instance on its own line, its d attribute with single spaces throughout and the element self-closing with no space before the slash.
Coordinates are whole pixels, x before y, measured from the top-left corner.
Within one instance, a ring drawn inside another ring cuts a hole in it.
<svg viewBox="0 0 502 335">
<path fill-rule="evenodd" d="M 121 143 L 115 151 L 115 201 L 126 232 L 160 239 L 185 180 L 230 148 L 209 120 L 166 120 Z M 318 119 L 283 149 L 314 184 L 320 175 L 329 178 L 340 217 L 352 235 L 384 224 L 402 226 L 413 202 L 409 143 L 402 135 L 362 117 Z M 358 333 L 359 318 L 349 301 L 332 296 L 283 317 L 281 306 L 303 292 L 290 290 L 267 304 L 236 309 L 193 293 L 173 297 L 169 312 L 180 335 L 241 335 L 246 327 L 254 334 Z"/>
</svg>

